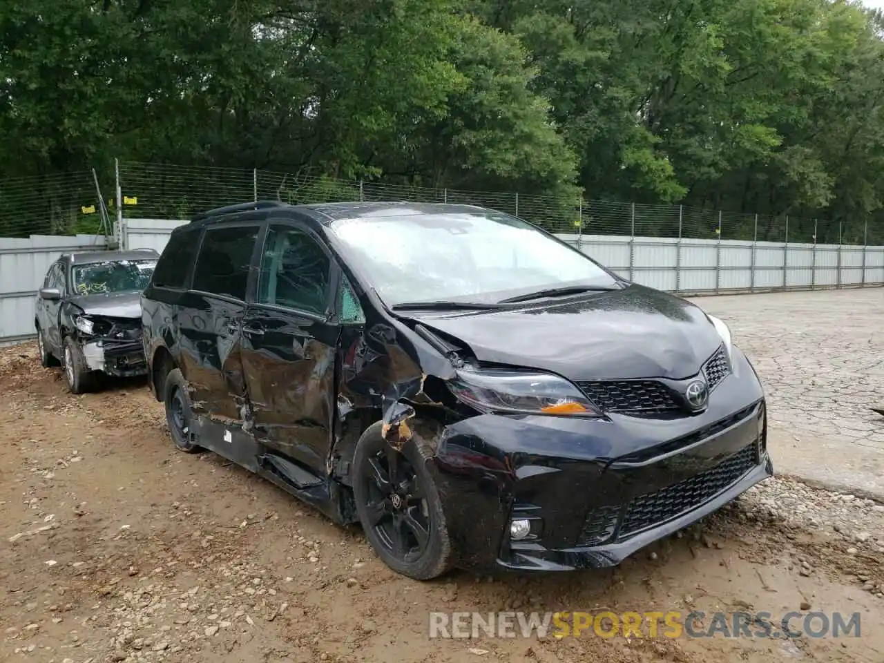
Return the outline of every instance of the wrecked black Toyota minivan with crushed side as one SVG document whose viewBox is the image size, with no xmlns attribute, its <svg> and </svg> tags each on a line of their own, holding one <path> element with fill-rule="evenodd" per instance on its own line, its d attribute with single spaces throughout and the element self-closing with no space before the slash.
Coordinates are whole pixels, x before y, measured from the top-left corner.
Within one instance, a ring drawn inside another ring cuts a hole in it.
<svg viewBox="0 0 884 663">
<path fill-rule="evenodd" d="M 141 305 L 175 445 L 360 522 L 412 578 L 616 565 L 773 474 L 726 324 L 499 211 L 211 210 Z"/>
</svg>

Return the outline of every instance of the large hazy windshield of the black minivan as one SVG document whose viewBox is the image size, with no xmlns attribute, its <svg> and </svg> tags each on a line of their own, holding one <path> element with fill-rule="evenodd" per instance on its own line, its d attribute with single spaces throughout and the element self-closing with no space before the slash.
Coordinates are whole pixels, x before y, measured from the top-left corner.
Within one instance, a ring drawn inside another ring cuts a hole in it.
<svg viewBox="0 0 884 663">
<path fill-rule="evenodd" d="M 617 286 L 588 256 L 499 212 L 340 219 L 331 232 L 388 306 L 496 303 L 547 288 Z"/>
</svg>

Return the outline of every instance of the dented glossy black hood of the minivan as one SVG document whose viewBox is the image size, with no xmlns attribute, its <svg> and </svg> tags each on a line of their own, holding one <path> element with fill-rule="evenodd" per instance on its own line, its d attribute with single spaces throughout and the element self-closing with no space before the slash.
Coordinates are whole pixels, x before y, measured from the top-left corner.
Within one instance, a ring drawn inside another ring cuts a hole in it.
<svg viewBox="0 0 884 663">
<path fill-rule="evenodd" d="M 683 379 L 696 375 L 722 342 L 695 304 L 637 285 L 530 309 L 412 318 L 460 339 L 479 361 L 577 381 Z"/>
</svg>

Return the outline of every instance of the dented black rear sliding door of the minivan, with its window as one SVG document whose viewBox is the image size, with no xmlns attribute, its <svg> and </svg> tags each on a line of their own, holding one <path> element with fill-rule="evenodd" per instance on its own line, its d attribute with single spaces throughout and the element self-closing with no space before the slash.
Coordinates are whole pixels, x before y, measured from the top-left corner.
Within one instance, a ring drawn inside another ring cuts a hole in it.
<svg viewBox="0 0 884 663">
<path fill-rule="evenodd" d="M 261 227 L 260 222 L 209 226 L 193 285 L 179 300 L 181 369 L 194 414 L 225 427 L 241 428 L 246 419 L 240 324 Z"/>
</svg>

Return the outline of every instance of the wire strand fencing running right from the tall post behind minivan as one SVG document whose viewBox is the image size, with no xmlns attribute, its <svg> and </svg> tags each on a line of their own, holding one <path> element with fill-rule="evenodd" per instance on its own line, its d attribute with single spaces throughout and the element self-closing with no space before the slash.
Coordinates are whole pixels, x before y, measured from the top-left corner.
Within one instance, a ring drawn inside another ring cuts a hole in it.
<svg viewBox="0 0 884 663">
<path fill-rule="evenodd" d="M 183 219 L 236 202 L 279 200 L 291 204 L 344 201 L 451 202 L 489 207 L 522 217 L 550 232 L 698 240 L 757 240 L 863 246 L 884 242 L 865 223 L 776 217 L 683 205 L 565 199 L 525 193 L 408 187 L 375 181 L 331 179 L 309 170 L 122 163 L 119 185 L 126 216 Z M 126 201 L 132 204 L 126 204 Z M 884 234 L 884 232 L 880 233 Z"/>
</svg>

